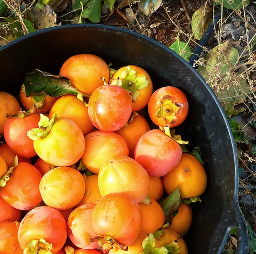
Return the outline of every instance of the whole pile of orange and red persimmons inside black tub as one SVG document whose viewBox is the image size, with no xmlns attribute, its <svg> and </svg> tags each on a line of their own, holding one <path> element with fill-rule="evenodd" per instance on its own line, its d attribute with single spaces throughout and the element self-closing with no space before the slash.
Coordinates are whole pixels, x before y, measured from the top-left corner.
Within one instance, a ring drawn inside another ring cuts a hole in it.
<svg viewBox="0 0 256 254">
<path fill-rule="evenodd" d="M 0 253 L 187 253 L 206 189 L 173 129 L 188 112 L 179 88 L 93 54 L 0 92 Z"/>
</svg>

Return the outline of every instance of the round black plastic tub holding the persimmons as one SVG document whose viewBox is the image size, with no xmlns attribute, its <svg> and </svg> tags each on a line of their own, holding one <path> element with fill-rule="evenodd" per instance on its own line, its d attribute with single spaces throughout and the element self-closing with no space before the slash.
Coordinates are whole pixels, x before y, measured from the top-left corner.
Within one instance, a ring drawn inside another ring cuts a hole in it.
<svg viewBox="0 0 256 254">
<path fill-rule="evenodd" d="M 238 207 L 235 143 L 217 97 L 188 62 L 172 50 L 135 32 L 98 24 L 53 27 L 33 32 L 0 48 L 1 91 L 18 94 L 25 74 L 34 68 L 58 75 L 71 55 L 92 53 L 117 69 L 145 68 L 154 89 L 176 86 L 187 95 L 189 114 L 177 128 L 189 149 L 199 146 L 207 174 L 201 204 L 185 237 L 189 253 L 221 253 L 232 227 L 238 228 L 237 253 L 247 253 L 246 224 Z"/>
</svg>

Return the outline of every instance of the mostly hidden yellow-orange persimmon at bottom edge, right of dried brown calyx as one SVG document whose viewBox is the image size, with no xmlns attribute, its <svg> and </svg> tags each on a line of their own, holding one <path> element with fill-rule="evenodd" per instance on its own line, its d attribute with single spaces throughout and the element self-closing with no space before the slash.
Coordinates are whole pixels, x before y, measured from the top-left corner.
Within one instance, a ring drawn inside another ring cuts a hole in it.
<svg viewBox="0 0 256 254">
<path fill-rule="evenodd" d="M 109 254 L 140 254 L 143 251 L 142 242 L 147 237 L 145 232 L 140 232 L 135 241 L 128 246 L 128 250 L 122 250 L 116 246 L 113 247 Z"/>
</svg>

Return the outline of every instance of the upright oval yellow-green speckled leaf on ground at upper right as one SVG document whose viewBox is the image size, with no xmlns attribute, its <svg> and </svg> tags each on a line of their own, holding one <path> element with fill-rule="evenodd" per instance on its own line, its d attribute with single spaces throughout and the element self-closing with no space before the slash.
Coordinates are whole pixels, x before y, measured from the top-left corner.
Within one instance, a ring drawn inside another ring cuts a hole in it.
<svg viewBox="0 0 256 254">
<path fill-rule="evenodd" d="M 191 29 L 196 39 L 201 39 L 210 21 L 211 8 L 209 6 L 202 6 L 194 12 L 191 19 Z"/>
</svg>

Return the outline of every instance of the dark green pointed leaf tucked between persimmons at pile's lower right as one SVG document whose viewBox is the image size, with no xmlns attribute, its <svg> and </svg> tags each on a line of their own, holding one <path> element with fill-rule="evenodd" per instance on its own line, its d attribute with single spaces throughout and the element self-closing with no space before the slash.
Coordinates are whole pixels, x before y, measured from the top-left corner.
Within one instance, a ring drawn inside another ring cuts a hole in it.
<svg viewBox="0 0 256 254">
<path fill-rule="evenodd" d="M 164 222 L 171 223 L 173 218 L 173 212 L 179 208 L 180 205 L 180 191 L 179 186 L 161 203 L 161 207 L 164 211 Z"/>
</svg>

